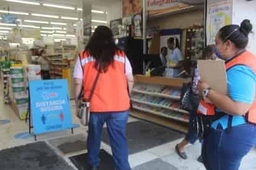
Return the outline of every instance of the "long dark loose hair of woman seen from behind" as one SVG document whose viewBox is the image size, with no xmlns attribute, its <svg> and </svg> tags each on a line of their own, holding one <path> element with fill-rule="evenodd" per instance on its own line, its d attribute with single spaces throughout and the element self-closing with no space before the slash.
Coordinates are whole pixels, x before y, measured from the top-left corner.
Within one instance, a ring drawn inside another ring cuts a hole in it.
<svg viewBox="0 0 256 170">
<path fill-rule="evenodd" d="M 94 67 L 104 72 L 113 63 L 116 50 L 119 48 L 114 43 L 111 29 L 106 26 L 98 26 L 85 47 L 96 60 Z"/>
</svg>

